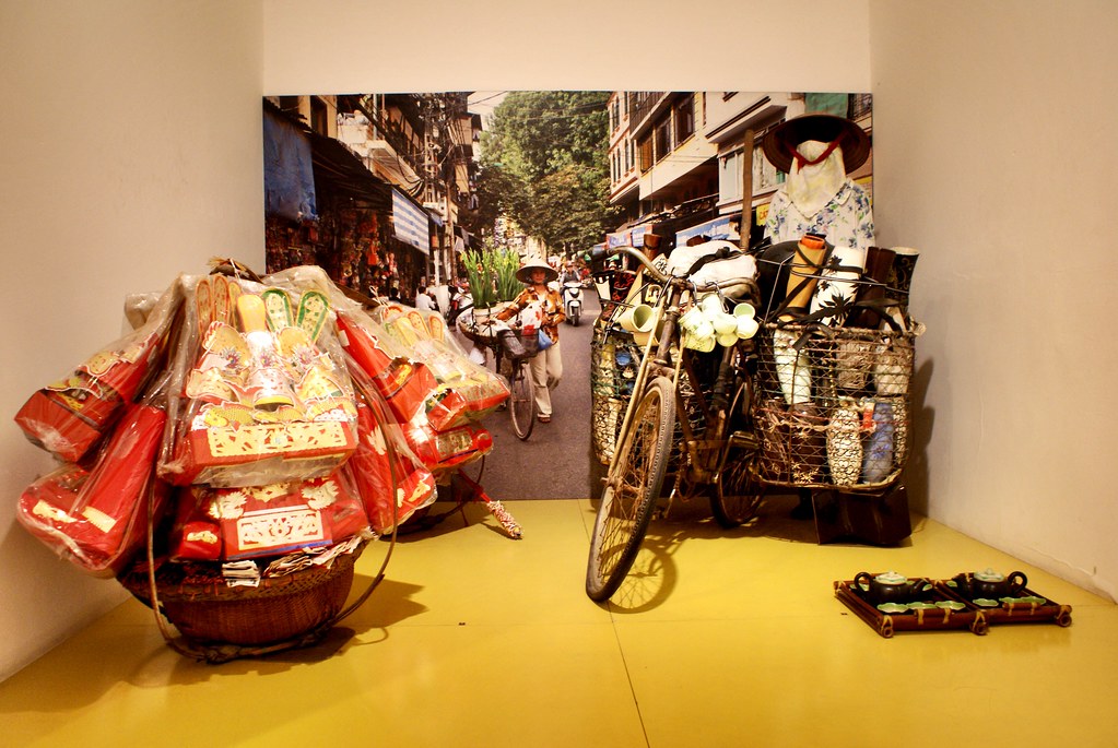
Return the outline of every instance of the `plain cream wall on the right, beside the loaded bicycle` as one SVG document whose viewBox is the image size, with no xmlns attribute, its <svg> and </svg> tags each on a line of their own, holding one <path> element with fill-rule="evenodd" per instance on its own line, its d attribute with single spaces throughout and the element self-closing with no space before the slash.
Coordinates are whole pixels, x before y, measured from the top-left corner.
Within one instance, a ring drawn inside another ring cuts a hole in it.
<svg viewBox="0 0 1118 748">
<path fill-rule="evenodd" d="M 922 250 L 919 499 L 1111 597 L 1115 29 L 1110 0 L 870 4 L 878 239 Z"/>
</svg>

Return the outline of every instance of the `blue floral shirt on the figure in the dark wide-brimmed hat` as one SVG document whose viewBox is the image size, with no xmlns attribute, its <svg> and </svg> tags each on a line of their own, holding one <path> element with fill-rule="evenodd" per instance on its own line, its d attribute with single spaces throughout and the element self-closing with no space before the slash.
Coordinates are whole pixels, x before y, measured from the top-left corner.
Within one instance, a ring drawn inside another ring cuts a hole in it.
<svg viewBox="0 0 1118 748">
<path fill-rule="evenodd" d="M 765 236 L 773 242 L 798 241 L 805 233 L 821 233 L 835 247 L 866 249 L 873 244 L 873 209 L 870 195 L 846 180 L 823 210 L 807 219 L 784 190 L 773 196 Z"/>
</svg>

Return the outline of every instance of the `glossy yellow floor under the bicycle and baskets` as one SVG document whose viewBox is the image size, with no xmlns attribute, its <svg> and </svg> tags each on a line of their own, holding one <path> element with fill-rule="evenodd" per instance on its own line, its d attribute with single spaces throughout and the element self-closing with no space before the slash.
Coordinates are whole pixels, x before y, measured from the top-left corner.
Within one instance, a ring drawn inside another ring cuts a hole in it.
<svg viewBox="0 0 1118 748">
<path fill-rule="evenodd" d="M 937 522 L 898 548 L 819 546 L 779 502 L 736 531 L 689 505 L 655 525 L 619 604 L 598 606 L 582 592 L 590 504 L 506 506 L 522 540 L 480 506 L 401 538 L 385 583 L 314 650 L 199 664 L 129 601 L 0 683 L 0 744 L 1118 745 L 1116 606 Z M 832 588 L 987 566 L 1025 572 L 1072 625 L 883 639 Z"/>
</svg>

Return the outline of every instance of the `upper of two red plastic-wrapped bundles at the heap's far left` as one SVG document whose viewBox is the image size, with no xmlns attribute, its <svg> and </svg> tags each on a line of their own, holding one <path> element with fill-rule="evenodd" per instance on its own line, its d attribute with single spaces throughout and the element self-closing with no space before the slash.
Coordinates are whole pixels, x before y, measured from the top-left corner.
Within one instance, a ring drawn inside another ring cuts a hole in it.
<svg viewBox="0 0 1118 748">
<path fill-rule="evenodd" d="M 85 457 L 162 367 L 182 300 L 183 282 L 177 278 L 139 328 L 32 394 L 16 414 L 27 438 L 67 462 Z"/>
</svg>

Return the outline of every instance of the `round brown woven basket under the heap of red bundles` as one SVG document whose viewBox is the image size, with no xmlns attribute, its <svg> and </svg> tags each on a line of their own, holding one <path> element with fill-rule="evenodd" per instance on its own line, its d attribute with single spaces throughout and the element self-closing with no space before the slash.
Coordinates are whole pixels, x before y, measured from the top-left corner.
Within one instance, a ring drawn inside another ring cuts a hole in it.
<svg viewBox="0 0 1118 748">
<path fill-rule="evenodd" d="M 167 618 L 197 643 L 264 646 L 313 640 L 326 633 L 344 606 L 362 549 L 339 555 L 330 567 L 263 578 L 255 587 L 228 586 L 217 564 L 164 563 L 155 572 L 155 592 Z M 151 605 L 145 563 L 129 569 L 121 584 Z"/>
</svg>

